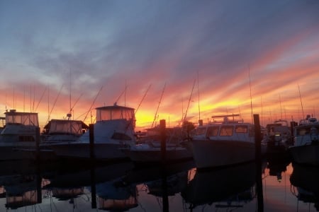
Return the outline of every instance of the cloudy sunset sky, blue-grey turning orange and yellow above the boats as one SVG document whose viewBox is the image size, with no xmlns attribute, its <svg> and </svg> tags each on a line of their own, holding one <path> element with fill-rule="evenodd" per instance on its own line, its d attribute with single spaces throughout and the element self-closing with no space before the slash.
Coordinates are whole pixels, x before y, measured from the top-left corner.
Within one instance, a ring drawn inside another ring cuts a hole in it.
<svg viewBox="0 0 319 212">
<path fill-rule="evenodd" d="M 137 129 L 298 122 L 319 114 L 319 1 L 0 0 L 0 73 L 0 113 L 40 127 L 115 102 Z"/>
</svg>

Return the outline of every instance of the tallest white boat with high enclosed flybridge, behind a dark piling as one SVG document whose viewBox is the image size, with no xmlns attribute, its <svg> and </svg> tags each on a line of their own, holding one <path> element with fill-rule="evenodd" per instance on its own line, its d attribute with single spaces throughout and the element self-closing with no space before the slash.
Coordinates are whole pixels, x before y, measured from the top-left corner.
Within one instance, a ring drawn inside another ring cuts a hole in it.
<svg viewBox="0 0 319 212">
<path fill-rule="evenodd" d="M 135 112 L 131 107 L 119 105 L 97 107 L 94 124 L 93 155 L 90 151 L 90 130 L 78 141 L 52 144 L 59 158 L 118 160 L 127 158 L 121 148 L 135 144 Z"/>
</svg>

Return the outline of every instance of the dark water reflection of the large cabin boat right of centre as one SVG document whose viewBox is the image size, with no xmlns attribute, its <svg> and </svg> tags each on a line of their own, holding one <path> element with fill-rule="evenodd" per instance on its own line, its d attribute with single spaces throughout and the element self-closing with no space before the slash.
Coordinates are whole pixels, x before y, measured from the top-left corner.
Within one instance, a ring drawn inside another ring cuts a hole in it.
<svg viewBox="0 0 319 212">
<path fill-rule="evenodd" d="M 190 208 L 206 204 L 216 208 L 244 207 L 255 197 L 256 170 L 255 163 L 245 163 L 197 171 L 181 196 Z"/>
</svg>

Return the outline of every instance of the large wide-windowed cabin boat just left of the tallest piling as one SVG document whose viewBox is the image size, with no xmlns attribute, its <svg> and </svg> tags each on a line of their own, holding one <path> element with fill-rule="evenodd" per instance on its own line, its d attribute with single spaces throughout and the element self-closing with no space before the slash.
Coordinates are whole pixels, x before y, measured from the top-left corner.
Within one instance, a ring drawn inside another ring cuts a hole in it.
<svg viewBox="0 0 319 212">
<path fill-rule="evenodd" d="M 235 120 L 235 116 L 238 114 L 216 116 L 213 118 L 223 118 L 223 121 L 196 127 L 191 149 L 198 169 L 235 165 L 255 159 L 254 125 Z M 233 117 L 233 120 L 228 117 Z"/>
</svg>

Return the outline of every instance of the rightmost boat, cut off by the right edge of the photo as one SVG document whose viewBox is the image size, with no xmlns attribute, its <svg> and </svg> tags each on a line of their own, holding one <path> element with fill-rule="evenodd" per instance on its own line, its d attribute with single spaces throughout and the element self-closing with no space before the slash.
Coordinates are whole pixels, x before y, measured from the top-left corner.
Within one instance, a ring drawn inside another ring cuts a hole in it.
<svg viewBox="0 0 319 212">
<path fill-rule="evenodd" d="M 319 165 L 319 122 L 307 115 L 293 128 L 294 143 L 289 153 L 295 163 Z"/>
</svg>

